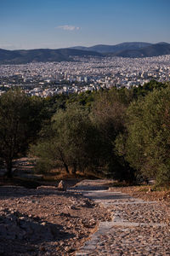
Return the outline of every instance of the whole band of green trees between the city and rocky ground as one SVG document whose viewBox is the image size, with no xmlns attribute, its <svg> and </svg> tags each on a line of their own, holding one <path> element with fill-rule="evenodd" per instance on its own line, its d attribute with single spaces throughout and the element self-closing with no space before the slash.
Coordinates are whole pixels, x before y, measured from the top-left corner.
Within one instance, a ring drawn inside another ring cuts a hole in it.
<svg viewBox="0 0 170 256">
<path fill-rule="evenodd" d="M 170 183 L 170 84 L 28 97 L 0 97 L 0 162 L 37 157 L 37 172 L 94 172 L 117 180 Z"/>
</svg>

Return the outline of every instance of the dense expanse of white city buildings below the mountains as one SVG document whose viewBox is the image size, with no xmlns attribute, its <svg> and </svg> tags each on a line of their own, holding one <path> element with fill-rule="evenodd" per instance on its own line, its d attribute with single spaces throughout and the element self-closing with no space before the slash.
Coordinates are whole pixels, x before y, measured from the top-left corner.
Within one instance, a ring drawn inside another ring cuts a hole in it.
<svg viewBox="0 0 170 256">
<path fill-rule="evenodd" d="M 74 61 L 31 62 L 0 66 L 0 95 L 20 87 L 30 96 L 80 93 L 87 90 L 127 89 L 151 79 L 170 80 L 170 55 L 147 58 L 74 57 Z"/>
</svg>

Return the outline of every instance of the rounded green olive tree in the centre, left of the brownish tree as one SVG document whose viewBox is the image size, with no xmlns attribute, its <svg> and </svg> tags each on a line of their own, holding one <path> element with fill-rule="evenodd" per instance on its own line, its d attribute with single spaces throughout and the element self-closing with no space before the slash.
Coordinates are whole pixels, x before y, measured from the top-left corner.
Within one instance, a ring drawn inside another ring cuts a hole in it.
<svg viewBox="0 0 170 256">
<path fill-rule="evenodd" d="M 84 172 L 89 166 L 92 169 L 97 166 L 98 133 L 88 112 L 77 104 L 54 114 L 51 126 L 42 133 L 39 143 L 31 147 L 31 154 L 37 155 L 40 162 L 63 167 L 67 173 Z"/>
</svg>

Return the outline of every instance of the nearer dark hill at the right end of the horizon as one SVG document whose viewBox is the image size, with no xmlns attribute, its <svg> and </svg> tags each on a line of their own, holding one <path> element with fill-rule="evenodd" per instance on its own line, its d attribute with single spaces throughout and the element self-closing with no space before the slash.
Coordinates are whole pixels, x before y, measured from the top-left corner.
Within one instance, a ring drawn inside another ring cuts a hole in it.
<svg viewBox="0 0 170 256">
<path fill-rule="evenodd" d="M 129 58 L 170 55 L 170 44 L 167 44 L 167 43 L 151 44 L 150 46 L 147 46 L 141 49 L 122 50 L 113 55 L 119 56 L 119 57 L 129 57 Z"/>
</svg>

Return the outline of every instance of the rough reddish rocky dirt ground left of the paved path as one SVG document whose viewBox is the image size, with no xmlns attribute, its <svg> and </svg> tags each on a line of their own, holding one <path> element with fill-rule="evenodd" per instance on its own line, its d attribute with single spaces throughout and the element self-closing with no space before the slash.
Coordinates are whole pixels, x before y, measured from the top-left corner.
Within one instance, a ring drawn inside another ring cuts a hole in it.
<svg viewBox="0 0 170 256">
<path fill-rule="evenodd" d="M 76 192 L 0 186 L 0 255 L 74 255 L 111 214 Z"/>
</svg>

